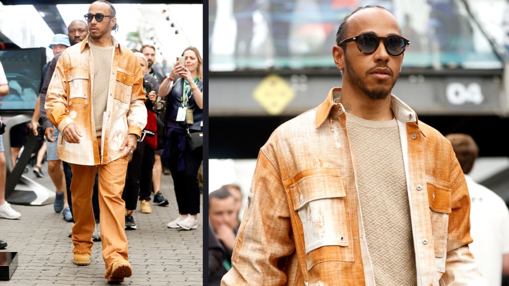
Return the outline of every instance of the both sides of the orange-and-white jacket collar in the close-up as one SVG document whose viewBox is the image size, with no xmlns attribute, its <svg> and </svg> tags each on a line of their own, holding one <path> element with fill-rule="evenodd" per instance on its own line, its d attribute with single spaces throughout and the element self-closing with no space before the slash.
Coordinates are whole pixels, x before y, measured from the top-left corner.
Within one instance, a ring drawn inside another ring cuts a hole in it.
<svg viewBox="0 0 509 286">
<path fill-rule="evenodd" d="M 334 87 L 329 91 L 327 98 L 317 108 L 317 115 L 315 117 L 315 127 L 318 128 L 329 117 L 331 110 L 337 109 L 339 114 L 345 113 L 345 108 L 340 103 L 341 101 L 341 87 Z M 418 123 L 417 114 L 413 109 L 401 101 L 396 95 L 391 94 L 391 109 L 396 119 L 402 122 L 416 122 Z"/>
</svg>

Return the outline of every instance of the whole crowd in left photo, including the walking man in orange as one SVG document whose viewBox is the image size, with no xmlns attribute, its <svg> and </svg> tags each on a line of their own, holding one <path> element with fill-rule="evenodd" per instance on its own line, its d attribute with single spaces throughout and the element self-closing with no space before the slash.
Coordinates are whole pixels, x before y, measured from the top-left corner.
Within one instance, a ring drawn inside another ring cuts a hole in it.
<svg viewBox="0 0 509 286">
<path fill-rule="evenodd" d="M 67 35 L 54 36 L 50 44 L 54 58 L 43 68 L 32 120 L 21 126 L 32 129 L 34 136 L 44 135 L 35 151 L 42 156 L 34 173 L 44 176 L 45 148 L 47 173 L 56 192 L 54 211 L 74 222 L 69 232 L 72 261 L 90 264 L 93 242 L 102 241 L 104 277 L 111 283 L 132 273 L 125 230 L 137 228 L 138 201 L 142 214 L 152 213 L 151 201 L 169 204 L 161 193 L 163 166 L 171 170 L 180 213 L 168 227 L 197 228 L 203 152 L 203 147 L 187 144 L 187 135 L 201 132 L 203 126 L 199 50 L 184 49 L 182 62 L 167 73 L 159 71 L 154 66 L 154 46 L 131 50 L 112 36 L 118 29 L 115 16 L 110 2 L 95 1 L 86 21 L 72 21 Z M 9 88 L 1 67 L 3 96 Z M 149 128 L 153 120 L 158 128 Z M 154 145 L 153 138 L 159 144 Z M 0 135 L 0 217 L 18 219 L 20 213 L 4 200 L 2 143 Z M 0 248 L 6 246 L 0 240 Z"/>
</svg>

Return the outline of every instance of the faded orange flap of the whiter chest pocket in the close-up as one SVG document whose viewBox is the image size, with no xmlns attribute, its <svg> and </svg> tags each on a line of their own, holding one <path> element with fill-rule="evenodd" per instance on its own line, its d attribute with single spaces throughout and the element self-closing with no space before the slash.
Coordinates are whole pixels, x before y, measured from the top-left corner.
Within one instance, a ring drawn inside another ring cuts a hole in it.
<svg viewBox="0 0 509 286">
<path fill-rule="evenodd" d="M 346 196 L 342 178 L 331 174 L 305 176 L 290 186 L 290 190 L 295 211 L 313 200 Z"/>
</svg>

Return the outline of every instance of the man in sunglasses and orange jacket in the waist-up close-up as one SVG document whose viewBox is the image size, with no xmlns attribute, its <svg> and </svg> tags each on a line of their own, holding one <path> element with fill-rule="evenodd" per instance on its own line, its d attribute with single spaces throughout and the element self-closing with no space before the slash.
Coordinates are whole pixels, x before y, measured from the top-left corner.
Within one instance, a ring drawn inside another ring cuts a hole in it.
<svg viewBox="0 0 509 286">
<path fill-rule="evenodd" d="M 222 285 L 486 285 L 451 144 L 391 94 L 395 17 L 358 8 L 336 43 L 342 87 L 261 148 Z"/>
</svg>

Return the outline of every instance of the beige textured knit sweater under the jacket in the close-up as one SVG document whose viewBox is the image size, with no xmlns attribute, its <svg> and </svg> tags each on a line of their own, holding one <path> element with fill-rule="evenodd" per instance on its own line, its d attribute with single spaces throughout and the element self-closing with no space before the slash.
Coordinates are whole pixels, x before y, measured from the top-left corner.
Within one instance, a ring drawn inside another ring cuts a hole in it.
<svg viewBox="0 0 509 286">
<path fill-rule="evenodd" d="M 347 115 L 375 282 L 416 285 L 416 262 L 398 122 Z"/>
</svg>

